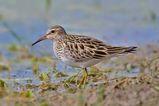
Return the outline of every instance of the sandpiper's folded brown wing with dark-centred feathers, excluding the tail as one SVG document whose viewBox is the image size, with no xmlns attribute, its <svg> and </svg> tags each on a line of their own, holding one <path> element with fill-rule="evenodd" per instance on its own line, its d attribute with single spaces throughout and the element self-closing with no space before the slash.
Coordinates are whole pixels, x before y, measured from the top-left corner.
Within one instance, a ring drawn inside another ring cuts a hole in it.
<svg viewBox="0 0 159 106">
<path fill-rule="evenodd" d="M 90 59 L 101 59 L 106 57 L 106 45 L 94 38 L 87 36 L 69 35 L 65 40 L 65 52 L 67 57 L 75 61 L 86 61 Z"/>
</svg>

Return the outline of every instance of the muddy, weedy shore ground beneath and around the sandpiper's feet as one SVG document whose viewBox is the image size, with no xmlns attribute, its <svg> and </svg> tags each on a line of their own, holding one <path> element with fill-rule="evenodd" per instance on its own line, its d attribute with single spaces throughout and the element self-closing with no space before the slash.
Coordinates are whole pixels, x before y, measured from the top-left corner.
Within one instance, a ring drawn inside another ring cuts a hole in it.
<svg viewBox="0 0 159 106">
<path fill-rule="evenodd" d="M 25 66 L 26 70 L 29 69 L 33 76 L 26 79 L 23 77 L 17 79 L 16 76 L 0 78 L 0 105 L 157 106 L 159 103 L 158 48 L 149 45 L 142 47 L 135 54 L 111 60 L 107 63 L 107 67 L 103 67 L 105 62 L 91 67 L 87 86 L 82 89 L 77 87 L 81 73 L 77 76 L 77 73 L 69 75 L 58 71 L 54 67 L 55 60 L 50 56 L 37 57 L 27 47 L 9 45 L 8 52 L 15 58 L 8 59 L 0 54 L 1 62 L 9 64 L 0 65 L 0 75 L 4 72 L 14 73 L 16 65 L 25 63 L 28 64 Z M 139 72 L 128 76 L 128 73 L 133 74 L 134 69 L 138 69 Z M 127 74 L 120 75 L 120 72 Z M 116 75 L 113 76 L 113 73 Z M 33 83 L 34 81 L 38 83 Z"/>
</svg>

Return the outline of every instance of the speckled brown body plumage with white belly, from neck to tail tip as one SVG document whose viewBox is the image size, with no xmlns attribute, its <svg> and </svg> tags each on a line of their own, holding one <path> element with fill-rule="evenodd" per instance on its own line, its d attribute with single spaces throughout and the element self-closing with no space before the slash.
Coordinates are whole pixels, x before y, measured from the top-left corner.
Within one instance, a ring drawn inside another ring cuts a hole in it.
<svg viewBox="0 0 159 106">
<path fill-rule="evenodd" d="M 59 26 L 52 29 L 61 28 Z M 64 30 L 62 28 L 62 30 Z M 51 31 L 51 29 L 50 29 Z M 63 31 L 65 32 L 65 31 Z M 98 62 L 112 57 L 115 54 L 131 53 L 136 47 L 113 47 L 104 42 L 82 35 L 62 33 L 58 39 L 54 39 L 53 50 L 65 64 L 86 68 Z"/>
</svg>

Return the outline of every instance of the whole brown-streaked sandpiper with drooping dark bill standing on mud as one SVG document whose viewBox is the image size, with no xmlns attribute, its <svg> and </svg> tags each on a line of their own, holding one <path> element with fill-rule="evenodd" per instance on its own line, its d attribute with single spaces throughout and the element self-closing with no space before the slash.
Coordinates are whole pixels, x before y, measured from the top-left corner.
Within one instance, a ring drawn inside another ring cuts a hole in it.
<svg viewBox="0 0 159 106">
<path fill-rule="evenodd" d="M 46 39 L 53 42 L 53 51 L 59 60 L 69 66 L 84 70 L 81 81 L 83 85 L 87 82 L 88 67 L 117 55 L 134 53 L 137 48 L 136 46 L 111 46 L 93 37 L 67 34 L 60 25 L 51 26 L 46 34 L 34 42 L 32 46 Z"/>
</svg>

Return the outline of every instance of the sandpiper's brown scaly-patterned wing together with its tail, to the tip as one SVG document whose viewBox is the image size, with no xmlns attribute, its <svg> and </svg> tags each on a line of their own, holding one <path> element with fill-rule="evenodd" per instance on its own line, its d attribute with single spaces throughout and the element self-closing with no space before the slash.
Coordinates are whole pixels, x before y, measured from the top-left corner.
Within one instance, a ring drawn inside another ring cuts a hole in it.
<svg viewBox="0 0 159 106">
<path fill-rule="evenodd" d="M 67 57 L 80 62 L 103 59 L 113 54 L 131 53 L 136 49 L 136 47 L 113 47 L 95 38 L 81 35 L 68 35 L 66 39 L 65 52 L 68 52 Z"/>
</svg>

